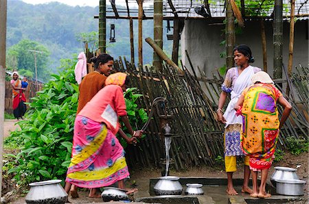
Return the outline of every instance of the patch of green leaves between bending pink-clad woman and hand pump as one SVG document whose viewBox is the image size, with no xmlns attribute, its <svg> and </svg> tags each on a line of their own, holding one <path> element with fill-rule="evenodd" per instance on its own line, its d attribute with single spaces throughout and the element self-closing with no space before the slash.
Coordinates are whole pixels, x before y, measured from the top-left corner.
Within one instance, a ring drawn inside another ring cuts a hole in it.
<svg viewBox="0 0 309 204">
<path fill-rule="evenodd" d="M 148 116 L 145 110 L 142 108 L 139 108 L 137 105 L 137 99 L 139 99 L 139 97 L 143 95 L 136 93 L 136 91 L 137 91 L 137 88 L 128 88 L 126 92 L 124 92 L 124 100 L 126 101 L 126 112 L 128 114 L 130 125 L 132 126 L 133 129 L 141 129 L 144 123 L 146 123 L 146 121 L 148 120 Z M 120 124 L 122 125 L 122 129 L 124 130 L 126 135 L 128 137 L 131 137 L 130 134 L 127 133 L 128 131 L 124 123 L 120 121 Z M 144 137 L 145 135 L 143 135 L 142 138 Z M 124 140 L 123 138 L 120 138 L 119 136 L 118 136 L 118 139 L 120 143 L 122 144 L 122 146 L 126 148 L 126 146 L 128 145 L 126 143 L 126 140 Z"/>
</svg>

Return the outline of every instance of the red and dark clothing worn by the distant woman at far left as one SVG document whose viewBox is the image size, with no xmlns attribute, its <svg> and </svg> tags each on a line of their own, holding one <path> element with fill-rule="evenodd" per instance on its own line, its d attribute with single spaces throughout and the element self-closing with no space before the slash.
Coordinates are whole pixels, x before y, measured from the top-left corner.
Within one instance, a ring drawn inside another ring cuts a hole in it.
<svg viewBox="0 0 309 204">
<path fill-rule="evenodd" d="M 11 84 L 14 85 L 16 88 L 21 88 L 21 80 L 17 79 L 14 81 L 14 79 L 11 80 Z M 27 107 L 25 105 L 25 94 L 22 90 L 12 90 L 12 96 L 13 96 L 13 114 L 15 118 L 21 118 L 25 114 L 25 111 L 27 110 Z"/>
</svg>

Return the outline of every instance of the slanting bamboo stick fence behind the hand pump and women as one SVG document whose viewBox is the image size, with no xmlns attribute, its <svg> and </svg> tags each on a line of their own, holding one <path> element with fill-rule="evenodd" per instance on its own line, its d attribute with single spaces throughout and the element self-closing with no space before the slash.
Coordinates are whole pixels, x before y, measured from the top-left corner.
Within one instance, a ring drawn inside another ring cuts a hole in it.
<svg viewBox="0 0 309 204">
<path fill-rule="evenodd" d="M 191 75 L 185 66 L 184 75 L 166 65 L 163 66 L 163 73 L 159 73 L 154 67 L 137 68 L 125 58 L 115 60 L 114 66 L 116 71 L 127 73 L 131 86 L 143 94 L 139 105 L 148 114 L 156 97 L 164 97 L 168 101 L 168 113 L 172 115 L 169 125 L 173 133 L 170 157 L 174 168 L 179 170 L 192 166 L 214 166 L 216 157 L 222 157 L 224 152 L 223 126 L 216 121 L 216 104 L 223 78 L 213 73 L 210 79 L 199 68 L 200 76 L 197 77 L 195 72 Z M 290 83 L 299 94 L 301 103 L 285 96 L 293 104 L 293 114 L 280 133 L 280 149 L 286 148 L 286 138 L 306 137 L 308 133 L 308 107 L 299 109 L 299 104 L 306 106 L 308 103 L 308 77 L 304 77 L 308 76 L 308 68 L 300 67 L 297 71 Z M 279 112 L 282 114 L 282 109 Z M 127 147 L 128 165 L 159 167 L 165 157 L 163 142 L 163 131 L 157 114 L 146 129 L 146 138 L 137 146 Z"/>
</svg>

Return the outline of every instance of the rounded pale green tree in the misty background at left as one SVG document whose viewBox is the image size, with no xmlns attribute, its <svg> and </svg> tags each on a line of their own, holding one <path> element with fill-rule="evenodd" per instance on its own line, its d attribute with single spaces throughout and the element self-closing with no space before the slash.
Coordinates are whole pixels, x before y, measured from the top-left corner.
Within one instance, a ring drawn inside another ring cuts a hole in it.
<svg viewBox="0 0 309 204">
<path fill-rule="evenodd" d="M 50 52 L 43 44 L 40 44 L 39 42 L 25 39 L 10 47 L 7 55 L 7 67 L 11 70 L 25 70 L 35 73 L 34 53 L 30 50 L 40 51 L 40 53 L 36 54 L 38 79 L 46 81 L 49 79 L 50 75 L 50 71 L 47 66 L 49 63 Z"/>
</svg>

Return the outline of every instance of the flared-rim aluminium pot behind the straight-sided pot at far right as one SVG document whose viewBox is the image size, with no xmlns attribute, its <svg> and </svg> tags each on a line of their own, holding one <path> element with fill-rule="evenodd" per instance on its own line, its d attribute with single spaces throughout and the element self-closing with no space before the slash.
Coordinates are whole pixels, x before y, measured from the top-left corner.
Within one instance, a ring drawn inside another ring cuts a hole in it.
<svg viewBox="0 0 309 204">
<path fill-rule="evenodd" d="M 291 179 L 299 179 L 299 177 L 296 174 L 295 168 L 288 168 L 284 166 L 275 166 L 275 171 L 273 172 L 273 175 L 271 175 L 271 183 L 273 183 L 273 186 L 276 185 L 277 180 L 291 180 Z"/>
</svg>

